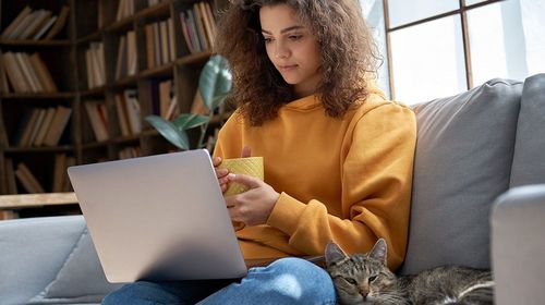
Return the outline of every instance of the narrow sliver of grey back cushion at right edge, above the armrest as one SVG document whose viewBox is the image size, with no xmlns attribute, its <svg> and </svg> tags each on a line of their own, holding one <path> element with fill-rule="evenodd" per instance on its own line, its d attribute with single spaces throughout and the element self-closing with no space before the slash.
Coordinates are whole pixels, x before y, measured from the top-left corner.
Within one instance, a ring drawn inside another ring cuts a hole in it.
<svg viewBox="0 0 545 305">
<path fill-rule="evenodd" d="M 545 183 L 545 74 L 526 78 L 520 101 L 511 186 Z"/>
</svg>

